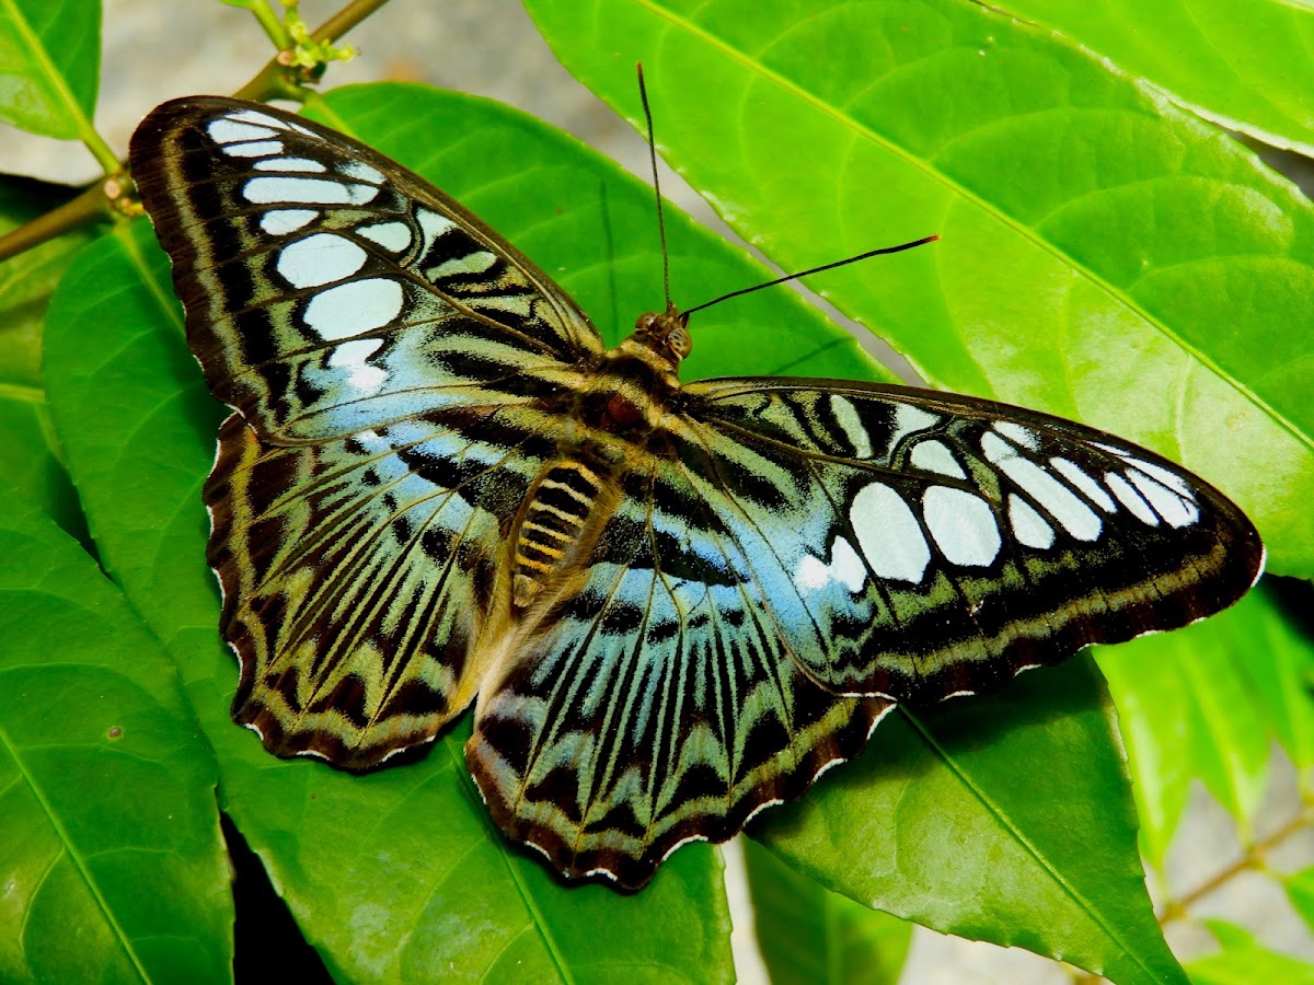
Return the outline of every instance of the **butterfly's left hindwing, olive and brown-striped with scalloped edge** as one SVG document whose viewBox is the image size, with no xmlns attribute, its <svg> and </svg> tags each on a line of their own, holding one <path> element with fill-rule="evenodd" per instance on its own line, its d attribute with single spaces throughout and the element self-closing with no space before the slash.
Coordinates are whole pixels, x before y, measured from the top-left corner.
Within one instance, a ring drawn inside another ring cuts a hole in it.
<svg viewBox="0 0 1314 985">
<path fill-rule="evenodd" d="M 280 755 L 363 770 L 434 737 L 482 667 L 470 642 L 543 441 L 491 418 L 268 445 L 240 415 L 206 483 L 234 718 Z"/>
</svg>

